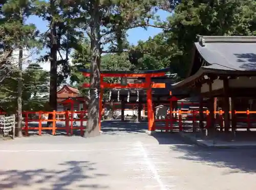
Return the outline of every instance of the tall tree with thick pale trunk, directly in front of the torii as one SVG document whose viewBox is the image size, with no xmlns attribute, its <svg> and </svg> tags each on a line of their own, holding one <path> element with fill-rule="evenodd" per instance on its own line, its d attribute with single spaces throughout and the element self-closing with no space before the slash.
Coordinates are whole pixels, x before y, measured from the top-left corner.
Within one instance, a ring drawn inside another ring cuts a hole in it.
<svg viewBox="0 0 256 190">
<path fill-rule="evenodd" d="M 121 53 L 127 48 L 126 31 L 151 25 L 155 12 L 169 8 L 168 1 L 134 0 L 95 0 L 80 1 L 81 25 L 90 38 L 91 51 L 91 98 L 88 111 L 87 131 L 84 137 L 99 135 L 99 100 L 94 91 L 100 87 L 101 54 L 104 52 Z M 103 46 L 110 44 L 107 50 Z"/>
</svg>

